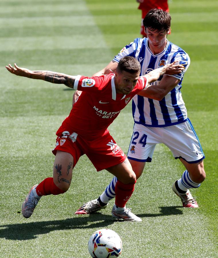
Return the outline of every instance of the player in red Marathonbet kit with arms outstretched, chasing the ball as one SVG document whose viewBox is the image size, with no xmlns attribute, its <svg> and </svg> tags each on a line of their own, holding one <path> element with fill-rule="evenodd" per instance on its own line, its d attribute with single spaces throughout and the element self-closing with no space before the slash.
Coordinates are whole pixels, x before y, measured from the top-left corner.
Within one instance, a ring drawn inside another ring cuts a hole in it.
<svg viewBox="0 0 218 258">
<path fill-rule="evenodd" d="M 91 78 L 51 71 L 30 71 L 16 64 L 15 67 L 10 64 L 6 66 L 15 75 L 62 83 L 83 91 L 56 133 L 57 142 L 52 150 L 55 155 L 53 177 L 34 185 L 23 202 L 22 214 L 25 218 L 32 215 L 41 196 L 57 195 L 69 189 L 73 167 L 79 157 L 86 154 L 97 171 L 106 169 L 118 178 L 112 216 L 116 219 L 141 221 L 141 218 L 126 208 L 126 202 L 134 191 L 135 173 L 107 128 L 133 96 L 146 90 L 149 83 L 156 81 L 164 73 L 183 71 L 182 65 L 174 64 L 175 62 L 139 77 L 139 62 L 126 56 L 120 59 L 115 74 Z"/>
</svg>

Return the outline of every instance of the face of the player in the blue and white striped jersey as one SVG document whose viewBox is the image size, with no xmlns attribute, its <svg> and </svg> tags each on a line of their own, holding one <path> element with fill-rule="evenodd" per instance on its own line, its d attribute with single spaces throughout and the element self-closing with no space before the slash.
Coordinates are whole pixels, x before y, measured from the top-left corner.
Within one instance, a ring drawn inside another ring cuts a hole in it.
<svg viewBox="0 0 218 258">
<path fill-rule="evenodd" d="M 153 52 L 153 54 L 159 54 L 166 47 L 166 36 L 169 32 L 166 30 L 149 30 L 145 29 L 145 33 L 147 34 L 149 48 Z"/>
</svg>

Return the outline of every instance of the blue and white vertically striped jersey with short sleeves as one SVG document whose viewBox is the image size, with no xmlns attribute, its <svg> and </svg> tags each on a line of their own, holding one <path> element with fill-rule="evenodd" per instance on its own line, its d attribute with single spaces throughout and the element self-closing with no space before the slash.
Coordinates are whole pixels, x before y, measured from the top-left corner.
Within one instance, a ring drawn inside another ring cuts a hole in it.
<svg viewBox="0 0 218 258">
<path fill-rule="evenodd" d="M 139 95 L 133 97 L 132 110 L 135 123 L 145 126 L 163 127 L 179 124 L 187 120 L 187 111 L 180 89 L 184 72 L 188 69 L 190 58 L 182 48 L 167 40 L 166 48 L 154 55 L 148 47 L 147 38 L 136 38 L 134 42 L 125 46 L 113 59 L 119 62 L 124 56 L 133 56 L 141 64 L 141 75 L 157 69 L 165 64 L 178 60 L 185 70 L 177 75 L 169 75 L 180 79 L 176 87 L 161 101 L 149 99 Z M 153 84 L 158 85 L 162 77 Z"/>
</svg>

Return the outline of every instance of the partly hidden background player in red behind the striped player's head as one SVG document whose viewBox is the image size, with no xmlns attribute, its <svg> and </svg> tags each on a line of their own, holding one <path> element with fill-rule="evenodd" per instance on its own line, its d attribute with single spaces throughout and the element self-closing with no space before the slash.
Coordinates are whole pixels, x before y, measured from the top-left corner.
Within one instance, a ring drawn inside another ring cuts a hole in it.
<svg viewBox="0 0 218 258">
<path fill-rule="evenodd" d="M 140 28 L 140 34 L 147 38 L 147 35 L 145 33 L 145 28 L 143 25 L 143 19 L 145 18 L 148 11 L 150 11 L 153 8 L 162 9 L 163 11 L 169 12 L 169 7 L 167 0 L 136 0 L 139 4 L 138 9 L 142 11 L 142 19 L 141 19 L 141 28 Z M 170 32 L 168 33 L 170 34 Z"/>
</svg>

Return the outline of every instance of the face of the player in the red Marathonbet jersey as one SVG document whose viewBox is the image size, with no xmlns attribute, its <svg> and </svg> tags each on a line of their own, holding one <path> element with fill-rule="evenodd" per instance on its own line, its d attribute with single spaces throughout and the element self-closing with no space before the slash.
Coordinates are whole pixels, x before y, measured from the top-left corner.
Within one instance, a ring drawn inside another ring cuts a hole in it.
<svg viewBox="0 0 218 258">
<path fill-rule="evenodd" d="M 128 95 L 134 89 L 139 79 L 139 73 L 115 73 L 116 92 Z"/>
</svg>

